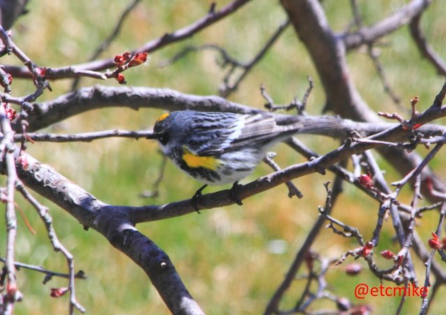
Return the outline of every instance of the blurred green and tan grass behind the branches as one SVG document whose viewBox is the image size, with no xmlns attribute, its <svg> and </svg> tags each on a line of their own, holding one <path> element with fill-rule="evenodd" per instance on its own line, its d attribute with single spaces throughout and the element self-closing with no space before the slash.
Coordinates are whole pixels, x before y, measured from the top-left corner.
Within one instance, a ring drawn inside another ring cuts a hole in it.
<svg viewBox="0 0 446 315">
<path fill-rule="evenodd" d="M 29 14 L 20 18 L 13 29 L 13 40 L 38 66 L 59 67 L 83 63 L 99 43 L 111 32 L 122 10 L 129 1 L 31 1 Z M 217 1 L 217 9 L 230 1 Z M 407 1 L 357 1 L 364 13 L 364 22 L 372 24 L 398 10 Z M 114 43 L 102 54 L 110 58 L 116 54 L 140 47 L 146 41 L 174 31 L 206 15 L 211 1 L 141 1 L 137 9 L 125 21 L 123 30 Z M 335 31 L 343 31 L 351 20 L 350 1 L 323 1 L 328 20 Z M 446 22 L 443 18 L 446 6 L 435 1 L 422 19 L 422 26 L 429 42 L 446 58 L 444 46 Z M 148 67 L 132 68 L 125 72 L 129 86 L 167 87 L 183 93 L 213 95 L 224 77 L 216 63 L 215 52 L 203 51 L 188 54 L 172 66 L 158 68 L 160 61 L 169 59 L 187 45 L 212 43 L 225 47 L 231 56 L 248 61 L 262 47 L 277 26 L 286 19 L 278 1 L 252 1 L 236 14 L 197 33 L 192 38 L 151 54 Z M 440 90 L 444 78 L 436 75 L 429 63 L 420 58 L 407 27 L 382 40 L 380 60 L 394 91 L 401 96 L 404 108 L 396 107 L 383 91 L 383 86 L 369 57 L 363 49 L 348 55 L 348 66 L 362 97 L 376 111 L 399 112 L 407 115 L 409 101 L 420 96 L 419 110 L 429 107 Z M 13 56 L 6 56 L 2 63 L 20 65 Z M 325 98 L 312 61 L 305 47 L 290 27 L 270 49 L 245 79 L 231 100 L 252 107 L 262 108 L 260 84 L 265 84 L 268 93 L 277 104 L 289 103 L 295 95 L 302 98 L 307 89 L 307 75 L 315 82 L 309 98 L 309 114 L 320 114 Z M 98 82 L 82 79 L 82 86 L 107 84 L 117 86 L 114 80 Z M 53 92 L 48 91 L 39 100 L 51 100 L 70 89 L 70 80 L 52 82 Z M 32 93 L 33 84 L 15 79 L 13 95 Z M 70 118 L 48 129 L 50 132 L 73 133 L 108 129 L 141 130 L 151 128 L 161 111 L 141 109 L 101 109 Z M 335 148 L 332 139 L 302 136 L 302 141 L 319 153 Z M 283 144 L 275 148 L 276 162 L 282 167 L 302 162 Z M 130 139 L 105 139 L 93 143 L 29 145 L 28 152 L 41 162 L 52 165 L 73 182 L 89 190 L 95 197 L 112 204 L 139 206 L 162 204 L 189 198 L 200 186 L 199 183 L 179 173 L 167 164 L 160 197 L 141 199 L 139 193 L 151 190 L 159 172 L 161 157 L 157 146 L 151 141 Z M 426 155 L 425 149 L 420 154 Z M 444 173 L 445 154 L 440 153 L 433 161 L 433 168 Z M 394 169 L 378 158 L 389 182 L 401 178 Z M 248 180 L 268 174 L 270 169 L 261 165 Z M 162 222 L 139 224 L 137 228 L 155 241 L 176 266 L 192 296 L 206 314 L 260 314 L 272 293 L 282 282 L 285 272 L 300 248 L 307 232 L 318 217 L 317 207 L 325 202 L 323 183 L 332 180 L 332 174 L 314 174 L 295 180 L 304 194 L 304 199 L 289 199 L 285 185 L 256 195 L 244 201 L 242 207 L 229 206 L 204 210 L 201 215 L 191 214 Z M 245 180 L 247 183 L 248 180 Z M 172 189 L 174 188 L 174 189 Z M 212 192 L 220 188 L 208 188 Z M 401 201 L 410 202 L 406 190 Z M 61 208 L 40 198 L 50 208 L 54 226 L 62 243 L 75 256 L 76 269 L 82 269 L 88 279 L 77 281 L 77 298 L 89 314 L 169 314 L 142 270 L 126 256 L 107 243 L 95 231 L 84 231 L 75 219 Z M 26 229 L 19 217 L 17 235 L 17 261 L 41 265 L 51 270 L 66 271 L 66 262 L 59 253 L 54 253 L 43 224 L 32 208 L 20 197 L 17 203 L 23 208 L 37 233 Z M 346 224 L 356 226 L 364 238 L 369 239 L 376 222 L 378 203 L 345 185 L 344 194 L 334 208 L 333 215 Z M 0 223 L 4 226 L 4 218 Z M 426 213 L 417 222 L 417 231 L 424 240 L 436 228 L 438 213 Z M 0 237 L 5 239 L 4 229 Z M 392 222 L 385 222 L 380 244 L 375 249 L 398 251 L 393 243 Z M 281 250 L 271 249 L 273 241 L 279 240 Z M 0 244 L 0 253 L 5 250 Z M 323 230 L 314 250 L 330 259 L 339 257 L 348 249 L 357 247 L 352 240 Z M 399 298 L 371 298 L 357 300 L 354 286 L 360 282 L 379 286 L 379 281 L 366 270 L 356 277 L 346 277 L 345 267 L 353 259 L 332 268 L 327 274 L 332 293 L 350 298 L 355 304 L 373 305 L 375 312 L 394 313 Z M 380 268 L 389 268 L 391 263 L 376 257 Z M 419 281 L 424 282 L 424 268 L 417 261 Z M 306 272 L 302 269 L 301 272 Z M 43 275 L 28 270 L 17 272 L 24 300 L 15 307 L 15 314 L 65 314 L 68 296 L 58 300 L 49 297 L 51 287 L 66 286 L 64 279 L 53 279 L 43 285 Z M 304 282 L 296 279 L 293 288 L 286 294 L 283 308 L 292 307 Z M 392 286 L 393 284 L 385 283 Z M 438 298 L 445 294 L 440 289 Z M 408 298 L 403 312 L 420 309 L 419 298 Z M 431 309 L 431 314 L 441 314 L 444 309 L 440 300 Z M 320 301 L 312 309 L 334 309 L 330 301 Z M 414 313 L 414 314 L 415 314 Z"/>
</svg>

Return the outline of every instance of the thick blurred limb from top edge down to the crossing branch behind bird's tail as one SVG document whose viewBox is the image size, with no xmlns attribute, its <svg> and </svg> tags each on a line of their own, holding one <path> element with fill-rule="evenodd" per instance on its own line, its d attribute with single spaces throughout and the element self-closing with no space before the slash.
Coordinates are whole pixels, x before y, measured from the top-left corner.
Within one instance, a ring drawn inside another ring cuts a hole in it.
<svg viewBox="0 0 446 315">
<path fill-rule="evenodd" d="M 282 0 L 300 40 L 312 57 L 327 98 L 326 109 L 357 121 L 378 122 L 353 85 L 344 43 L 334 34 L 317 0 Z"/>
</svg>

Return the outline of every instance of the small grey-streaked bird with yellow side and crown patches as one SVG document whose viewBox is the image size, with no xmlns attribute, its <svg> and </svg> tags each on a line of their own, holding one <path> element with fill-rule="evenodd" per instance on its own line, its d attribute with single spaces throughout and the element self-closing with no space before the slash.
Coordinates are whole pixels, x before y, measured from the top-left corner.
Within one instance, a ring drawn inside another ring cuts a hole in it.
<svg viewBox="0 0 446 315">
<path fill-rule="evenodd" d="M 235 188 L 279 141 L 327 129 L 318 121 L 287 117 L 281 123 L 268 113 L 170 112 L 158 118 L 148 139 L 157 139 L 164 154 L 193 178 L 206 185 L 234 183 Z"/>
</svg>

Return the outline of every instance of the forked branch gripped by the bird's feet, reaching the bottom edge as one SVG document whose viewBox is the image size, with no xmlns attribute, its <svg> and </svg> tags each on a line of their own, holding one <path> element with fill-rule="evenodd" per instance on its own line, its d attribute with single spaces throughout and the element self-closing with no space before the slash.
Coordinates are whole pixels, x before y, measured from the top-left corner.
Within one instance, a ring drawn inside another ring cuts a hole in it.
<svg viewBox="0 0 446 315">
<path fill-rule="evenodd" d="M 200 103 L 201 104 L 201 103 Z M 446 116 L 446 106 L 432 106 L 420 116 L 414 117 L 411 123 L 425 125 L 436 118 Z M 280 116 L 283 121 L 293 116 Z M 296 164 L 258 180 L 243 185 L 238 189 L 240 200 L 281 185 L 286 181 L 307 174 L 319 172 L 356 153 L 381 146 L 383 141 L 394 141 L 411 135 L 401 124 L 379 132 L 367 138 L 371 141 L 355 141 L 346 144 L 309 162 Z M 233 203 L 229 190 L 206 194 L 194 205 L 191 200 L 178 201 L 163 206 L 111 206 L 96 199 L 81 187 L 58 174 L 45 164 L 40 164 L 30 155 L 22 153 L 20 163 L 16 164 L 17 175 L 22 182 L 43 197 L 54 201 L 86 227 L 91 227 L 104 235 L 112 245 L 127 254 L 141 268 L 160 292 L 160 295 L 172 312 L 188 309 L 186 312 L 201 312 L 198 305 L 180 281 L 169 257 L 151 240 L 134 228 L 134 224 L 153 220 L 176 217 L 197 210 L 216 208 Z M 26 161 L 26 163 L 24 163 Z M 4 165 L 3 165 L 4 167 Z M 5 169 L 3 169 L 3 172 Z"/>
</svg>

